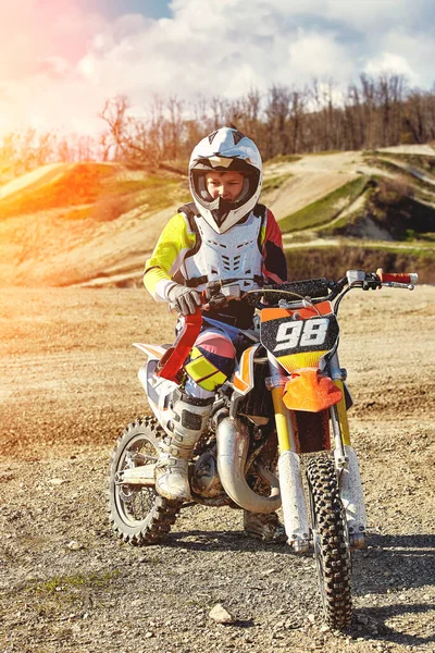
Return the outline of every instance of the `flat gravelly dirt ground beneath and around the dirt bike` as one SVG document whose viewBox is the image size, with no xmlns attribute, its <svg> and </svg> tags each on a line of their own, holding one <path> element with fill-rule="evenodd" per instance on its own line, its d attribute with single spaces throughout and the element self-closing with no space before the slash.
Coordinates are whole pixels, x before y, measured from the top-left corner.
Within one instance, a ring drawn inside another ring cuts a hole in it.
<svg viewBox="0 0 435 653">
<path fill-rule="evenodd" d="M 340 360 L 370 526 L 356 619 L 322 623 L 314 560 L 243 535 L 241 512 L 186 507 L 132 547 L 105 515 L 117 434 L 148 412 L 134 342 L 172 340 L 140 289 L 2 289 L 0 651 L 435 651 L 435 287 L 355 291 Z M 214 623 L 223 604 L 232 625 Z"/>
</svg>

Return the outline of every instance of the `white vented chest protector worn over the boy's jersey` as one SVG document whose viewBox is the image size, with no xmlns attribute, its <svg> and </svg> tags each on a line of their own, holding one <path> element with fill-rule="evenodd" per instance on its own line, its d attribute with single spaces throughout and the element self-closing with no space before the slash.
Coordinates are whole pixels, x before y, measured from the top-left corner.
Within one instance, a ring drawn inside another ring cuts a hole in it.
<svg viewBox="0 0 435 653">
<path fill-rule="evenodd" d="M 207 281 L 221 280 L 239 281 L 243 291 L 259 287 L 263 263 L 259 249 L 261 217 L 251 211 L 244 223 L 235 224 L 223 234 L 213 231 L 200 215 L 195 217 L 195 221 L 200 245 L 192 256 L 184 260 L 183 276 L 187 281 L 201 281 L 195 284 L 198 289 L 203 289 Z"/>
</svg>

